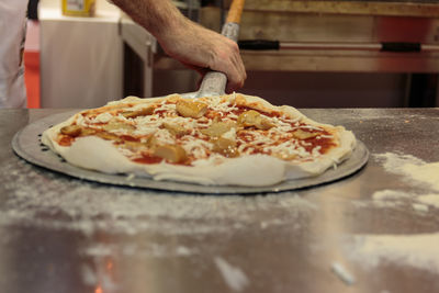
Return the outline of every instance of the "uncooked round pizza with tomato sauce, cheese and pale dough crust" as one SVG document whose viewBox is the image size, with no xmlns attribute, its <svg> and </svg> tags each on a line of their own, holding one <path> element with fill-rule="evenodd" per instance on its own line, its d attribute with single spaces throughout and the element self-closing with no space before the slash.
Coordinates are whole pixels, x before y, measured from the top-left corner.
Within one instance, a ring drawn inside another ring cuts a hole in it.
<svg viewBox="0 0 439 293">
<path fill-rule="evenodd" d="M 314 177 L 356 145 L 342 126 L 239 93 L 128 97 L 86 110 L 43 134 L 69 164 L 199 184 L 270 185 Z"/>
</svg>

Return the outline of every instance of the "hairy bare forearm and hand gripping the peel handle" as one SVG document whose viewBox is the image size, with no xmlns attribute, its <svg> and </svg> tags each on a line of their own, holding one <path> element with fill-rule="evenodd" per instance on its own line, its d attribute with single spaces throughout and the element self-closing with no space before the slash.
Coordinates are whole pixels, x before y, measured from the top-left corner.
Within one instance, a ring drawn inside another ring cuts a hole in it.
<svg viewBox="0 0 439 293">
<path fill-rule="evenodd" d="M 113 0 L 160 43 L 164 50 L 190 68 L 226 74 L 227 92 L 243 87 L 246 71 L 238 45 L 190 21 L 170 0 Z"/>
</svg>

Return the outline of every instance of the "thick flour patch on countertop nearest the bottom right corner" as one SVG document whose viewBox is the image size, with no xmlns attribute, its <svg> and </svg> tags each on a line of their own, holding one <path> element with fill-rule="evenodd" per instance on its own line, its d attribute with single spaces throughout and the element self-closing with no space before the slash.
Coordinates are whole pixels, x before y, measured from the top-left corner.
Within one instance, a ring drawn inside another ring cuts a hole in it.
<svg viewBox="0 0 439 293">
<path fill-rule="evenodd" d="M 361 266 L 382 262 L 439 273 L 439 233 L 417 235 L 358 235 L 348 241 L 347 255 Z"/>
</svg>

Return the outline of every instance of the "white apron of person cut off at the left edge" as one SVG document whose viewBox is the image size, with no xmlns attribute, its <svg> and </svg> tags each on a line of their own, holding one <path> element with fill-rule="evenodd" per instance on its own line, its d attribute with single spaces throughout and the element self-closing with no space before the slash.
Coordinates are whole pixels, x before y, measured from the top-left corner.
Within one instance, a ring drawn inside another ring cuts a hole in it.
<svg viewBox="0 0 439 293">
<path fill-rule="evenodd" d="M 23 49 L 27 0 L 0 0 L 0 108 L 26 106 Z"/>
</svg>

